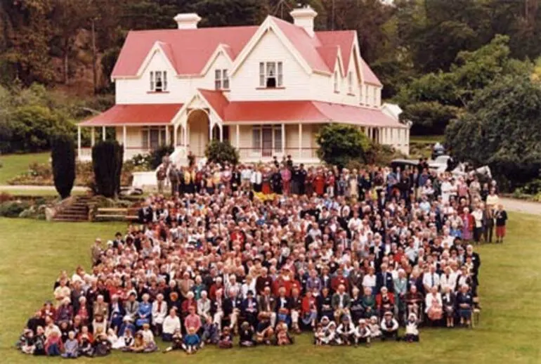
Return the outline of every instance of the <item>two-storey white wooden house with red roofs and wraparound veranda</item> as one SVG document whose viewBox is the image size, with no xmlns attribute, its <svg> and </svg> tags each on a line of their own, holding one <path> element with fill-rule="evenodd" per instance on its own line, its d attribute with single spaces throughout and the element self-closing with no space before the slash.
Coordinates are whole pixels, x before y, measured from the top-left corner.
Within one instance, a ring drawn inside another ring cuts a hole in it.
<svg viewBox="0 0 541 364">
<path fill-rule="evenodd" d="M 178 29 L 129 32 L 111 78 L 116 104 L 82 127 L 114 128 L 131 158 L 172 144 L 176 162 L 201 156 L 212 138 L 228 140 L 242 161 L 292 155 L 316 163 L 315 134 L 330 122 L 351 124 L 408 154 L 409 127 L 360 55 L 354 30 L 316 32 L 310 7 L 294 23 L 268 16 L 259 27 L 198 28 L 195 13 Z M 399 109 L 398 109 L 399 110 Z"/>
</svg>

